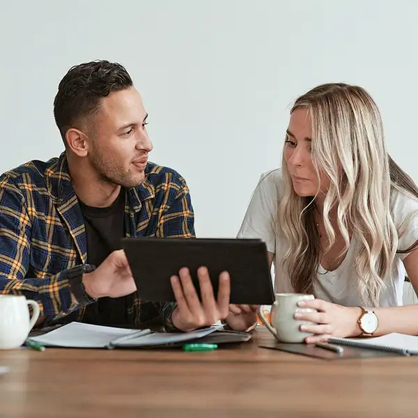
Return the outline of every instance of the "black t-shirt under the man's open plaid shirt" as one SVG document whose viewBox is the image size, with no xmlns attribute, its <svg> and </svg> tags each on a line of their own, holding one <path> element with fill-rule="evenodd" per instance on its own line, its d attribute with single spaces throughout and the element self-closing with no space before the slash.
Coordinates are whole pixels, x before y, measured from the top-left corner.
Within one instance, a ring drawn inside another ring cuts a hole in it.
<svg viewBox="0 0 418 418">
<path fill-rule="evenodd" d="M 107 208 L 93 208 L 80 201 L 86 226 L 87 263 L 98 267 L 116 249 L 121 249 L 125 235 L 125 191 Z M 82 322 L 95 325 L 123 325 L 126 320 L 126 297 L 100 297 L 86 307 Z"/>
</svg>

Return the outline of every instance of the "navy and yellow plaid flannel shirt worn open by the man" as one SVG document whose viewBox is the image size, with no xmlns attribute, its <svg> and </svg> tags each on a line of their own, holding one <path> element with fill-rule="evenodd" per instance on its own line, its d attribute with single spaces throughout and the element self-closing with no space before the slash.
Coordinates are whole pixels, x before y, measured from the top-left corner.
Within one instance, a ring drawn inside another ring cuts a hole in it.
<svg viewBox="0 0 418 418">
<path fill-rule="evenodd" d="M 125 236 L 193 238 L 189 189 L 176 171 L 148 163 L 146 180 L 126 191 Z M 65 153 L 32 161 L 0 177 L 0 293 L 36 300 L 49 323 L 84 307 L 72 302 L 66 270 L 86 263 L 86 231 Z M 160 316 L 172 327 L 174 303 L 127 296 L 127 318 L 140 324 Z"/>
</svg>

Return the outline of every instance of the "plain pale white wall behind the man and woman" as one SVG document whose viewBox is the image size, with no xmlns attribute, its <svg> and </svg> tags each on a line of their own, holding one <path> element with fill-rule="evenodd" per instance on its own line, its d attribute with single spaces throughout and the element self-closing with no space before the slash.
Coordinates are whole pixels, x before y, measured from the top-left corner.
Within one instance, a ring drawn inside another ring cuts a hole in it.
<svg viewBox="0 0 418 418">
<path fill-rule="evenodd" d="M 199 236 L 234 236 L 279 166 L 288 107 L 323 82 L 376 98 L 389 150 L 418 180 L 414 0 L 1 1 L 0 171 L 58 155 L 52 102 L 70 66 L 123 63 L 152 159 L 183 174 Z"/>
</svg>

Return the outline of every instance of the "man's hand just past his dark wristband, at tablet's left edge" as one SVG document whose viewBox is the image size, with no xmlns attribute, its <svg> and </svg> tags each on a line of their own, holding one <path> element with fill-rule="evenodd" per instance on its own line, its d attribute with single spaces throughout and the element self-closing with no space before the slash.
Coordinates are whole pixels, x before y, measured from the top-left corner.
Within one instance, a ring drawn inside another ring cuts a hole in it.
<svg viewBox="0 0 418 418">
<path fill-rule="evenodd" d="M 91 297 L 121 297 L 137 291 L 125 251 L 114 251 L 96 270 L 83 275 L 83 284 Z"/>
</svg>

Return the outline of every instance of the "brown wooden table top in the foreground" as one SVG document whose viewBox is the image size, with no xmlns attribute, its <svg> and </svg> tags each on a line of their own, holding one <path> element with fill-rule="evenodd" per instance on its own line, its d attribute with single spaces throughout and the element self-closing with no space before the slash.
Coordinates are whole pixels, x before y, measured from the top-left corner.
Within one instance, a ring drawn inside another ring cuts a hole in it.
<svg viewBox="0 0 418 418">
<path fill-rule="evenodd" d="M 417 417 L 418 356 L 321 359 L 250 343 L 0 351 L 0 417 Z"/>
</svg>

